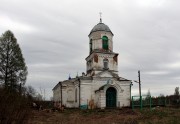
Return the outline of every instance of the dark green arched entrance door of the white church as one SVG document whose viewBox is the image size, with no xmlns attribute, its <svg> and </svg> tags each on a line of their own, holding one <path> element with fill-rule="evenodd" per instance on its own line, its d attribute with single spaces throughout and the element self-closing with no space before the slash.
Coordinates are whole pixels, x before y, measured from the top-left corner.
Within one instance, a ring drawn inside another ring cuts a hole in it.
<svg viewBox="0 0 180 124">
<path fill-rule="evenodd" d="M 106 91 L 106 107 L 113 108 L 116 107 L 116 89 L 109 87 Z"/>
</svg>

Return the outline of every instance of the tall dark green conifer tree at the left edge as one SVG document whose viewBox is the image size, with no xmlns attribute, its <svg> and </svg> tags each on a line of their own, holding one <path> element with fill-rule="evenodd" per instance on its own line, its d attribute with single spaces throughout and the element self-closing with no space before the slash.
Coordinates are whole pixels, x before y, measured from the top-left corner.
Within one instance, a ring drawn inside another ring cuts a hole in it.
<svg viewBox="0 0 180 124">
<path fill-rule="evenodd" d="M 14 34 L 8 30 L 0 37 L 0 84 L 18 88 L 26 82 L 28 71 Z"/>
</svg>

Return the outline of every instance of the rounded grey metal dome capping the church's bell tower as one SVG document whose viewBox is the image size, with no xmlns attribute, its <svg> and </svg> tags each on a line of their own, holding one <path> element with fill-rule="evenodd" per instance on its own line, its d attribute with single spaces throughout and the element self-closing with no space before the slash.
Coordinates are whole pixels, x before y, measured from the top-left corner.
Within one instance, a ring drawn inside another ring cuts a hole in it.
<svg viewBox="0 0 180 124">
<path fill-rule="evenodd" d="M 96 32 L 96 31 L 106 31 L 106 32 L 110 32 L 113 35 L 110 28 L 102 22 L 99 22 L 97 25 L 95 25 L 94 28 L 89 33 L 89 35 L 93 32 Z"/>
</svg>

